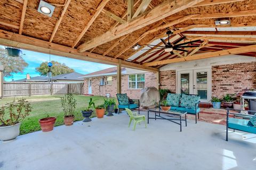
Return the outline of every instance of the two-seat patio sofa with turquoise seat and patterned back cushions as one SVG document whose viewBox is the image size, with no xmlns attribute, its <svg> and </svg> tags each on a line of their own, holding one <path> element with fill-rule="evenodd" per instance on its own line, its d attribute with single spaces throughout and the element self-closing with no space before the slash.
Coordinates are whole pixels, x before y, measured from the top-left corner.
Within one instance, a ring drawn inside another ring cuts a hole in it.
<svg viewBox="0 0 256 170">
<path fill-rule="evenodd" d="M 171 110 L 185 111 L 188 114 L 194 114 L 195 117 L 197 114 L 199 118 L 200 108 L 198 107 L 198 105 L 200 102 L 200 96 L 190 94 L 168 94 L 166 100 L 171 106 Z"/>
</svg>

